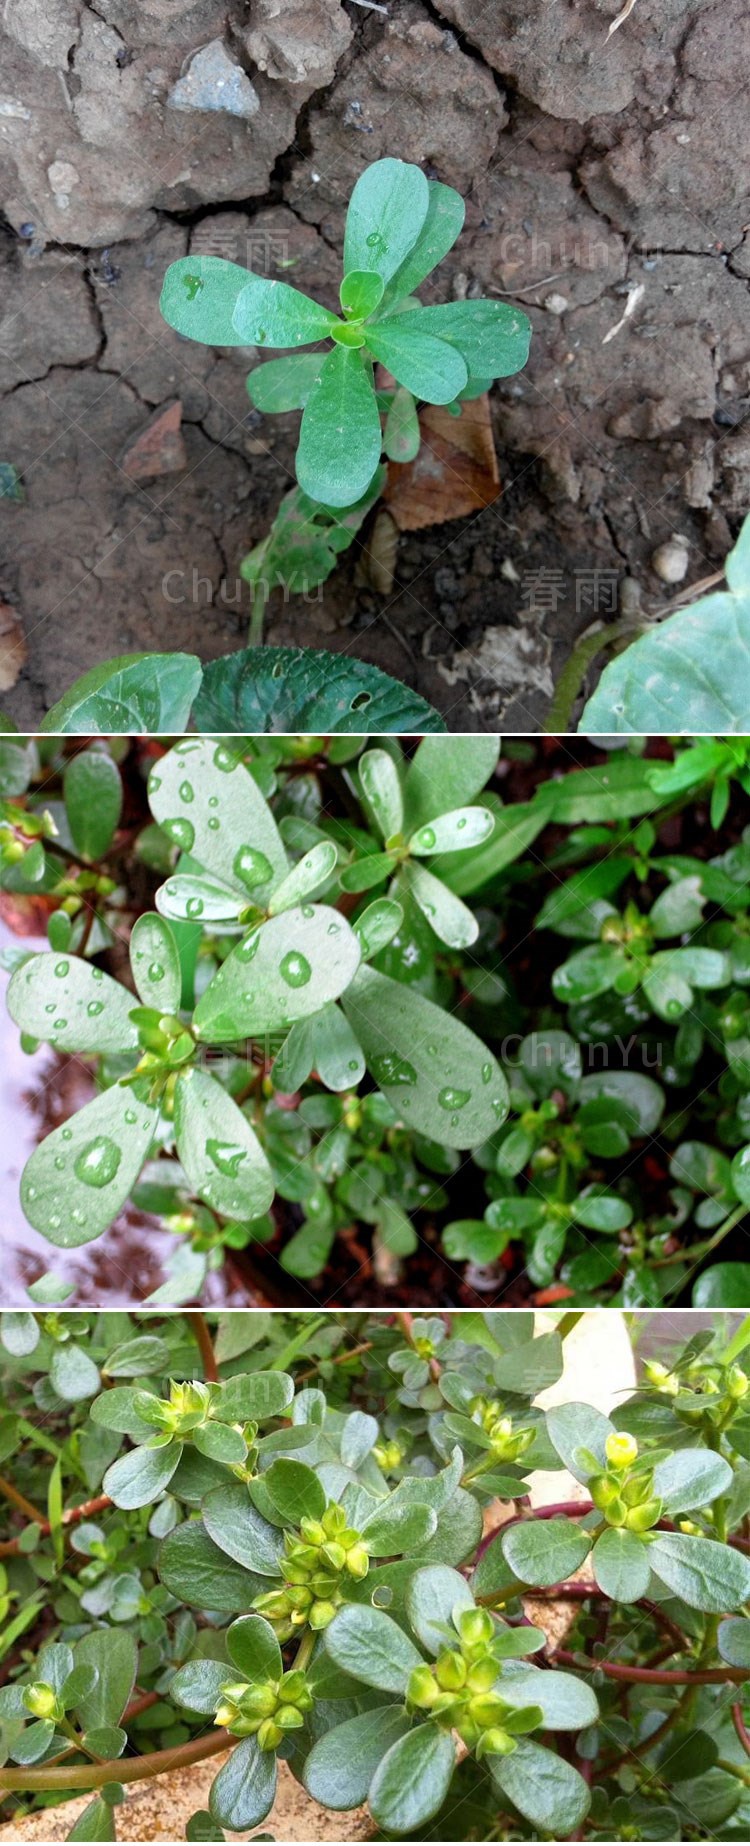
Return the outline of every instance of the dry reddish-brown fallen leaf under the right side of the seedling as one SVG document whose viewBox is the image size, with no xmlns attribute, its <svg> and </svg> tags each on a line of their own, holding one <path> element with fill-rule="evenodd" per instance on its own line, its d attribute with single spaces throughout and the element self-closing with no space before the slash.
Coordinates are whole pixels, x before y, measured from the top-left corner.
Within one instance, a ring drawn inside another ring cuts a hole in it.
<svg viewBox="0 0 750 1846">
<path fill-rule="evenodd" d="M 442 526 L 491 506 L 501 493 L 490 399 L 462 404 L 451 417 L 443 404 L 419 412 L 421 449 L 414 462 L 392 462 L 382 498 L 401 532 Z"/>
</svg>

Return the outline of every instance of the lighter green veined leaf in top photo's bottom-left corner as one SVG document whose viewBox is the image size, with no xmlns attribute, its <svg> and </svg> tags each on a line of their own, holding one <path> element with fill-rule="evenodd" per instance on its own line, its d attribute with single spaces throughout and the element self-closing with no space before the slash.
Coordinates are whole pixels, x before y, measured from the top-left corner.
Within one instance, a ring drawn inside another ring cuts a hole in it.
<svg viewBox="0 0 750 1846">
<path fill-rule="evenodd" d="M 194 653 L 120 653 L 76 679 L 41 729 L 68 737 L 183 731 L 200 683 Z"/>
</svg>

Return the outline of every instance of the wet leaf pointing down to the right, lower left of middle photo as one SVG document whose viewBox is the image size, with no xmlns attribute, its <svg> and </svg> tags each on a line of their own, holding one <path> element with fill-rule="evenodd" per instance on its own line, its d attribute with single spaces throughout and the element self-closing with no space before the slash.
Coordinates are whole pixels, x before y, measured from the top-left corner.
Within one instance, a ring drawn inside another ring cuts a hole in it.
<svg viewBox="0 0 750 1846">
<path fill-rule="evenodd" d="M 225 1218 L 260 1218 L 273 1200 L 262 1146 L 236 1102 L 205 1071 L 183 1071 L 174 1093 L 177 1154 L 198 1198 Z"/>
</svg>

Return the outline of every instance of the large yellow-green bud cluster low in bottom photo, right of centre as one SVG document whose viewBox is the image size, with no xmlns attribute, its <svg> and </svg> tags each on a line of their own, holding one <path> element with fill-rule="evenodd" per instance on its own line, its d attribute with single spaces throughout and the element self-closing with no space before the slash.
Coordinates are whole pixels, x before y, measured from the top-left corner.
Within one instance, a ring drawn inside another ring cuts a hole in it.
<svg viewBox="0 0 750 1846">
<path fill-rule="evenodd" d="M 432 1667 L 414 1667 L 406 1708 L 458 1732 L 477 1757 L 510 1756 L 517 1735 L 541 1724 L 541 1711 L 538 1706 L 508 1706 L 493 1691 L 499 1665 L 491 1652 L 495 1623 L 488 1610 L 462 1610 L 454 1624 L 458 1647 L 443 1648 Z"/>
</svg>

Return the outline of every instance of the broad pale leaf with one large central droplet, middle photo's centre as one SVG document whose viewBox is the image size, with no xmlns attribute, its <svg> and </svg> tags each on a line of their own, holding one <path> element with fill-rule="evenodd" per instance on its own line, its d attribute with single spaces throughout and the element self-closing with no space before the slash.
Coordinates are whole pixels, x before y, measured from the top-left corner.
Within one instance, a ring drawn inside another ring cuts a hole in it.
<svg viewBox="0 0 750 1846">
<path fill-rule="evenodd" d="M 194 1028 L 216 1043 L 279 1032 L 336 1001 L 358 960 L 357 936 L 338 910 L 284 910 L 233 949 L 198 1001 Z"/>
</svg>

